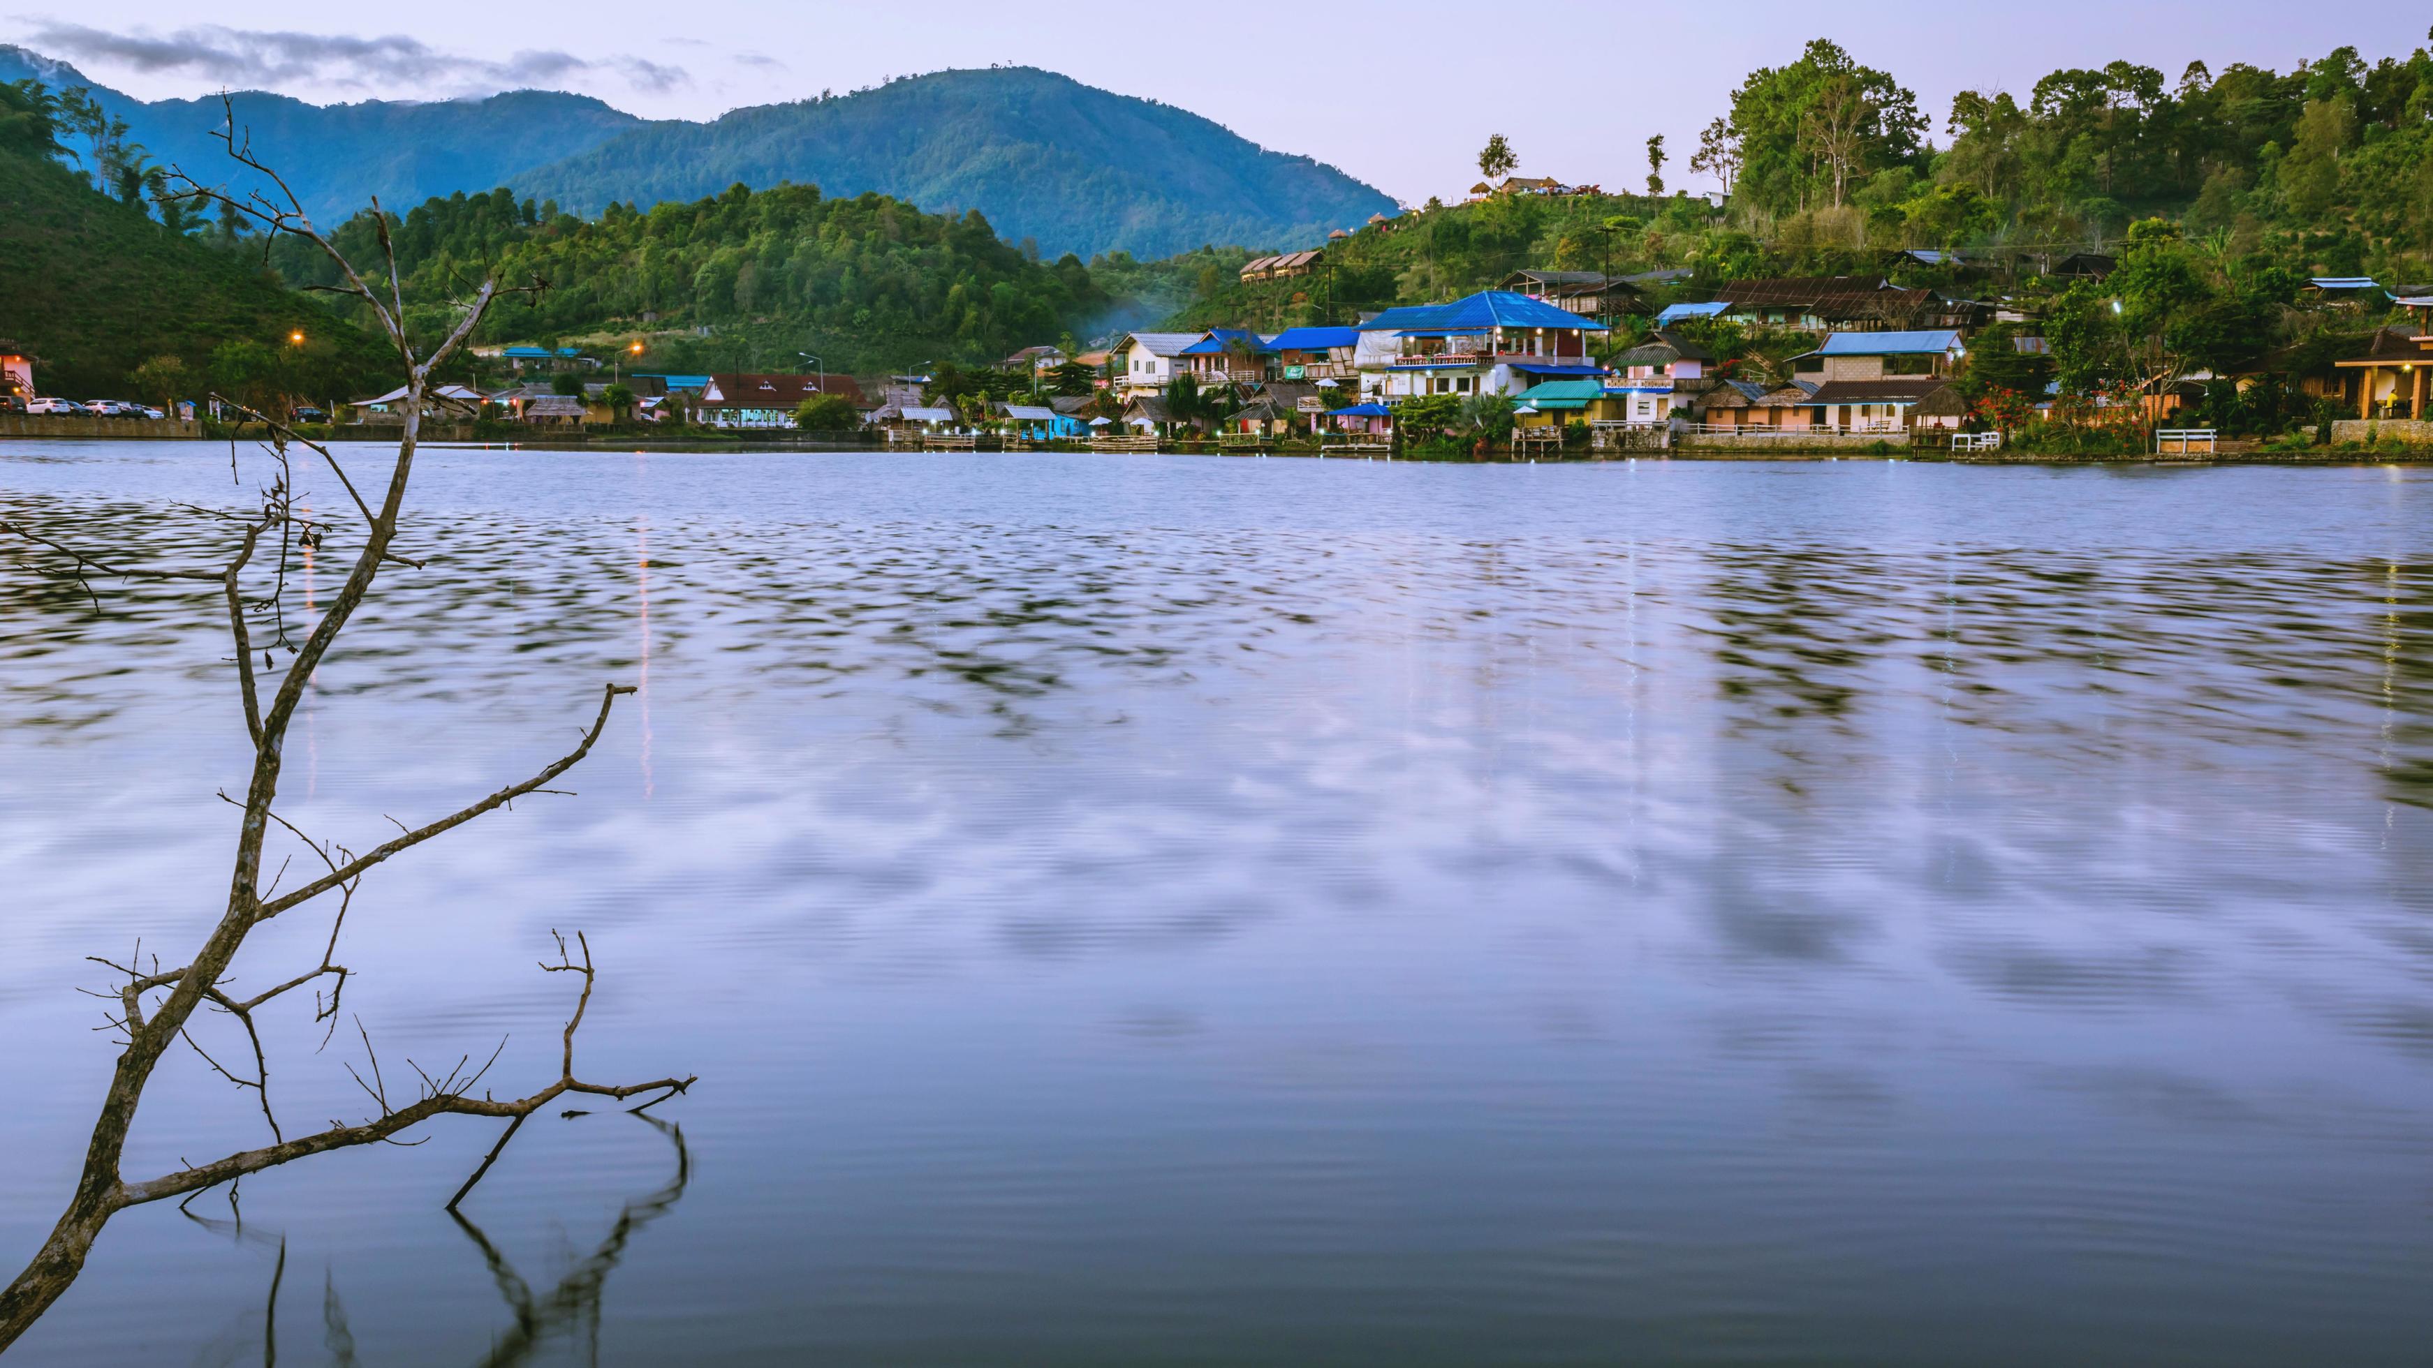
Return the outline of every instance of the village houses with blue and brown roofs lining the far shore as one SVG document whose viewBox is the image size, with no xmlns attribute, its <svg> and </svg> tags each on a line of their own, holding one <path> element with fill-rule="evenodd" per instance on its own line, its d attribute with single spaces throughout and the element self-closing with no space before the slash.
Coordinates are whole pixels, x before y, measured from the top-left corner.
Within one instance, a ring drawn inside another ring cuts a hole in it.
<svg viewBox="0 0 2433 1368">
<path fill-rule="evenodd" d="M 1562 192 L 1523 190 L 1530 194 Z M 1382 231 L 1370 226 L 1367 231 Z M 2119 260 L 2007 262 L 2100 289 Z M 1258 258 L 1243 279 L 1307 279 L 1326 250 Z M 2302 311 L 2345 347 L 2173 369 L 2095 396 L 2063 394 L 2053 345 L 2015 299 L 1905 287 L 1900 267 L 1993 272 L 1905 250 L 1883 275 L 1752 277 L 1693 289 L 1686 272 L 1521 270 L 1445 304 L 1355 323 L 1131 330 L 1068 355 L 1041 343 L 973 374 L 672 374 L 579 347 L 499 347 L 518 381 L 448 396 L 530 428 L 691 425 L 713 433 L 876 430 L 898 445 L 1214 442 L 1226 450 L 1494 450 L 1942 445 L 2032 437 L 2041 425 L 2207 433 L 2221 403 L 2263 391 L 2333 442 L 2421 440 L 2433 287 L 2316 277 Z M 618 364 L 616 377 L 603 377 Z M 1002 398 L 993 398 L 1002 396 Z M 380 420 L 394 396 L 355 408 Z"/>
</svg>

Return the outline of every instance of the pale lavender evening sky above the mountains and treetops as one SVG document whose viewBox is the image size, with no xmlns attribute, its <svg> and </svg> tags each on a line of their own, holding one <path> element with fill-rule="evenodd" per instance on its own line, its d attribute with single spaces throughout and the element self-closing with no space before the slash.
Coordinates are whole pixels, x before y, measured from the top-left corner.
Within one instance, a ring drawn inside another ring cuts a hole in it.
<svg viewBox="0 0 2433 1368">
<path fill-rule="evenodd" d="M 2333 10 L 2282 0 L 1737 0 L 1725 10 L 1338 0 L 1263 15 L 1002 0 L 586 0 L 516 5 L 508 22 L 496 0 L 411 10 L 217 0 L 207 12 L 209 24 L 197 24 L 182 2 L 80 0 L 73 12 L 0 17 L 0 41 L 146 100 L 221 87 L 314 102 L 545 87 L 652 119 L 710 119 L 954 66 L 1044 66 L 1204 114 L 1418 204 L 1457 199 L 1477 180 L 1489 134 L 1513 143 L 1523 175 L 1606 190 L 1642 187 L 1647 139 L 1662 134 L 1667 185 L 1701 190 L 1686 168 L 1698 131 L 1752 68 L 1798 58 L 1813 36 L 1900 78 L 1942 136 L 1951 95 L 2027 95 L 2063 66 L 2126 58 L 2178 80 L 2190 61 L 2289 68 L 2341 44 L 2375 61 L 2426 44 L 2433 24 L 2421 0 Z M 406 15 L 411 24 L 397 22 Z"/>
</svg>

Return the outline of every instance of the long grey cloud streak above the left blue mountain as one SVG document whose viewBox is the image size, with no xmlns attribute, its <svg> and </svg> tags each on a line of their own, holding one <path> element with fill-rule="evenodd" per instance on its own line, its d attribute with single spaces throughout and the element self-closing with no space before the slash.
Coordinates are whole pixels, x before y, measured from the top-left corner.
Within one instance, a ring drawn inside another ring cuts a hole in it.
<svg viewBox="0 0 2433 1368">
<path fill-rule="evenodd" d="M 34 29 L 27 34 L 27 46 L 49 56 L 129 66 L 144 73 L 200 75 L 221 85 L 280 87 L 314 83 L 482 95 L 611 75 L 635 90 L 664 95 L 693 80 L 681 66 L 662 66 L 633 56 L 594 61 L 562 51 L 528 49 L 494 61 L 448 53 L 406 34 L 358 39 L 290 29 L 229 29 L 221 24 L 200 24 L 170 34 L 114 34 L 56 19 L 29 22 Z"/>
</svg>

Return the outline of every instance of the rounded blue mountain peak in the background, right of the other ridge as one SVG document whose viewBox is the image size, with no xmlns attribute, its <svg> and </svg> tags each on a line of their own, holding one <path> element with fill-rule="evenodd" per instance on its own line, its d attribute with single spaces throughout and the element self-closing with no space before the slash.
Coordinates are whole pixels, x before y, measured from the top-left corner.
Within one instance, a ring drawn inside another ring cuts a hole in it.
<svg viewBox="0 0 2433 1368">
<path fill-rule="evenodd" d="M 647 124 L 511 180 L 574 211 L 642 209 L 727 185 L 876 190 L 932 211 L 978 209 L 1046 255 L 1161 258 L 1202 243 L 1314 245 L 1392 214 L 1384 192 L 1265 151 L 1197 114 L 1036 68 L 942 70 L 873 90 Z"/>
</svg>

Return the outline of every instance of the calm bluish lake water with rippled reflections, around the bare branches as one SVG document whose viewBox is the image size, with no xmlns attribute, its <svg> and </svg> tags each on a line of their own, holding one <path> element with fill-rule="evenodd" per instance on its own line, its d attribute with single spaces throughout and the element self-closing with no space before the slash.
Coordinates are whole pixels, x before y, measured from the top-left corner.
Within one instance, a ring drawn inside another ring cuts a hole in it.
<svg viewBox="0 0 2433 1368">
<path fill-rule="evenodd" d="M 175 556 L 178 501 L 226 447 L 0 445 L 7 515 Z M 411 508 L 287 816 L 642 693 L 372 875 L 350 1021 L 265 1023 L 290 1132 L 365 1115 L 358 1016 L 392 1086 L 550 1079 L 552 928 L 579 1069 L 701 1084 L 523 1127 L 472 1225 L 479 1120 L 124 1212 L 12 1363 L 2433 1344 L 2433 469 L 426 452 Z M 15 1271 L 83 957 L 217 916 L 243 729 L 207 593 L 0 573 Z M 180 1052 L 129 1174 L 263 1140 Z"/>
</svg>

